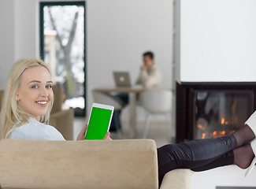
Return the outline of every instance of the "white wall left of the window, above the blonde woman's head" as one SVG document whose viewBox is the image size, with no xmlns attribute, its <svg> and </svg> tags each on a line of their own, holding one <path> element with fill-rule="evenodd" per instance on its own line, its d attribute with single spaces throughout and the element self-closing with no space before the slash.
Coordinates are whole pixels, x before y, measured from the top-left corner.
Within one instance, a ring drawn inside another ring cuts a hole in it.
<svg viewBox="0 0 256 189">
<path fill-rule="evenodd" d="M 23 57 L 38 57 L 35 0 L 0 2 L 0 90 L 5 89 L 9 71 Z"/>
</svg>

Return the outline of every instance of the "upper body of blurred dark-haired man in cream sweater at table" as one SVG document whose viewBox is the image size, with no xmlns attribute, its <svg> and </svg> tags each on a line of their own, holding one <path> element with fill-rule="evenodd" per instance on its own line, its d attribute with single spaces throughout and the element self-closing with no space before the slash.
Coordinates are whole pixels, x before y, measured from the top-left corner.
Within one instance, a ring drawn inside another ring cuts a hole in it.
<svg viewBox="0 0 256 189">
<path fill-rule="evenodd" d="M 161 83 L 161 72 L 154 64 L 154 54 L 150 51 L 143 54 L 143 65 L 140 67 L 136 84 L 143 87 L 156 87 Z"/>
</svg>

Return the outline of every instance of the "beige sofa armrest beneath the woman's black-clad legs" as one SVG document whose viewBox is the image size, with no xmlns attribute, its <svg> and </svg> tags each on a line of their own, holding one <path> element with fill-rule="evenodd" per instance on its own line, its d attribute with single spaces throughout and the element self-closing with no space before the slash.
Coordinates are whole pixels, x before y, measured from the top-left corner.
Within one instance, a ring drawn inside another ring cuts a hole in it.
<svg viewBox="0 0 256 189">
<path fill-rule="evenodd" d="M 161 189 L 189 189 L 193 171 L 190 169 L 175 169 L 167 172 L 161 183 Z"/>
</svg>

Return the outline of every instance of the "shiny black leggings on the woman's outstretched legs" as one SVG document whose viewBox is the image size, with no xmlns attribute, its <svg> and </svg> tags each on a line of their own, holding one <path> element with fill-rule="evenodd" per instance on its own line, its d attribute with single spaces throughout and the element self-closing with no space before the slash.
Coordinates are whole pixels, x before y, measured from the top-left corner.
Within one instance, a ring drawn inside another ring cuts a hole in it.
<svg viewBox="0 0 256 189">
<path fill-rule="evenodd" d="M 232 165 L 235 148 L 234 135 L 161 146 L 158 148 L 159 186 L 161 186 L 165 173 L 173 169 L 191 169 L 198 172 Z"/>
</svg>

